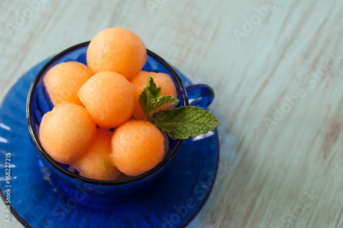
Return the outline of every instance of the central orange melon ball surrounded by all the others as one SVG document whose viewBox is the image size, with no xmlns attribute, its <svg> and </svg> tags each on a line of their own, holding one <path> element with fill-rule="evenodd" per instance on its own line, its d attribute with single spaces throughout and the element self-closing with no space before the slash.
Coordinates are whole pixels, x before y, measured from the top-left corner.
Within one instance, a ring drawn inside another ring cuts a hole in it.
<svg viewBox="0 0 343 228">
<path fill-rule="evenodd" d="M 93 75 L 78 91 L 86 110 L 99 127 L 117 127 L 132 116 L 134 88 L 119 73 L 104 71 Z"/>
</svg>

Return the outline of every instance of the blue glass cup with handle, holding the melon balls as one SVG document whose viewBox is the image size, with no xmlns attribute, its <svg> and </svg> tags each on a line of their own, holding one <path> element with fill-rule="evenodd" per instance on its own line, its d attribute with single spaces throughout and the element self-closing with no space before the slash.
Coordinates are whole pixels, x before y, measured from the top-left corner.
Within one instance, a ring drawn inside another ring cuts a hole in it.
<svg viewBox="0 0 343 228">
<path fill-rule="evenodd" d="M 126 177 L 115 181 L 99 181 L 89 179 L 78 174 L 72 167 L 54 161 L 45 151 L 39 141 L 40 121 L 45 113 L 52 110 L 53 105 L 49 99 L 49 94 L 43 84 L 45 73 L 56 64 L 61 62 L 77 61 L 86 64 L 86 50 L 89 42 L 75 45 L 62 51 L 52 58 L 40 70 L 34 79 L 27 96 L 27 125 L 32 142 L 34 143 L 41 162 L 42 170 L 51 173 L 51 181 L 59 187 L 61 192 L 69 197 L 82 198 L 81 196 L 96 195 L 121 199 L 132 192 L 147 186 L 155 177 L 161 175 L 167 167 L 168 162 L 174 157 L 182 144 L 182 140 L 172 140 L 169 138 L 169 150 L 163 161 L 155 168 L 137 177 Z M 180 102 L 176 107 L 185 105 L 196 105 L 206 108 L 213 100 L 213 90 L 206 85 L 193 85 L 185 88 L 178 73 L 165 60 L 147 50 L 147 62 L 143 71 L 167 73 L 173 79 L 178 92 Z M 88 202 L 89 203 L 89 202 Z"/>
</svg>

